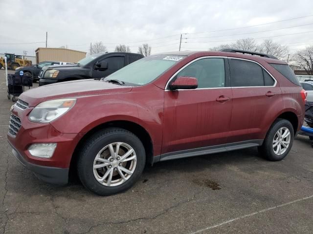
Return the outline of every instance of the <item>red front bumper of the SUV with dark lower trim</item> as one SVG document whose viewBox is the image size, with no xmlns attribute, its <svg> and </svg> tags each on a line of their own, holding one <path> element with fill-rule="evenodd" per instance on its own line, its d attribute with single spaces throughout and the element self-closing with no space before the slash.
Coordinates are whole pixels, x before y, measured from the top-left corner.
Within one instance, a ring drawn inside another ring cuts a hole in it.
<svg viewBox="0 0 313 234">
<path fill-rule="evenodd" d="M 22 122 L 16 136 L 7 134 L 13 148 L 12 153 L 40 179 L 48 183 L 65 184 L 75 147 L 84 134 L 60 133 L 49 123 L 31 122 L 28 120 L 31 110 L 32 108 L 20 110 L 15 107 L 11 111 Z M 28 147 L 34 143 L 57 143 L 57 147 L 50 158 L 36 157 L 28 151 Z"/>
</svg>

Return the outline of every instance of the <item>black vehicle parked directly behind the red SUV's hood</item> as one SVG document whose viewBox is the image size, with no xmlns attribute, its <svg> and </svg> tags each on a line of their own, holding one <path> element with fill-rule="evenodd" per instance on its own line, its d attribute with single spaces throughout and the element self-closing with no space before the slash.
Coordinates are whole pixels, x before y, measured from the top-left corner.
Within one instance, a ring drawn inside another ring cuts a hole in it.
<svg viewBox="0 0 313 234">
<path fill-rule="evenodd" d="M 123 52 L 93 54 L 72 66 L 46 66 L 39 74 L 39 86 L 76 79 L 104 78 L 143 55 Z"/>
</svg>

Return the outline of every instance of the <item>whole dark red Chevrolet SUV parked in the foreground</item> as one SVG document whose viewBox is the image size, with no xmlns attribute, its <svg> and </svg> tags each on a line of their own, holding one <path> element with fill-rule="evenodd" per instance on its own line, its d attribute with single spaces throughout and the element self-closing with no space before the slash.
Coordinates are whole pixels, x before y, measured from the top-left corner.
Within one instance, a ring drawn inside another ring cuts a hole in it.
<svg viewBox="0 0 313 234">
<path fill-rule="evenodd" d="M 77 171 L 86 188 L 112 195 L 130 188 L 146 162 L 255 146 L 281 160 L 303 123 L 305 98 L 288 64 L 266 54 L 163 53 L 101 80 L 22 93 L 8 140 L 40 179 L 67 183 Z"/>
</svg>

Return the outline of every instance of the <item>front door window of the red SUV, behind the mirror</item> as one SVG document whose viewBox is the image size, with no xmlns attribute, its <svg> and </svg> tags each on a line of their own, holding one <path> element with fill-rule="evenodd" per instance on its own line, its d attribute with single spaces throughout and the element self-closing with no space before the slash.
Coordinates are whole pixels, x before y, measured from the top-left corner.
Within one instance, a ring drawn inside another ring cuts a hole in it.
<svg viewBox="0 0 313 234">
<path fill-rule="evenodd" d="M 225 87 L 224 59 L 199 59 L 181 70 L 176 77 L 197 78 L 198 88 Z"/>
</svg>

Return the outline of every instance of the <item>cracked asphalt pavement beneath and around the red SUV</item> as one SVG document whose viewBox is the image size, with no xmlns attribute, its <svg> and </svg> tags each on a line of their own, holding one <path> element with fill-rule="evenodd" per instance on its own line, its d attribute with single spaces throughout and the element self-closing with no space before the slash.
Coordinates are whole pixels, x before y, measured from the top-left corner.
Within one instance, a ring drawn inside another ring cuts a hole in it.
<svg viewBox="0 0 313 234">
<path fill-rule="evenodd" d="M 313 195 L 308 137 L 297 137 L 279 162 L 256 148 L 160 162 L 125 193 L 101 197 L 78 180 L 54 186 L 25 169 L 6 140 L 5 83 L 0 97 L 0 233 L 193 233 L 270 207 L 202 233 L 312 233 L 313 198 L 279 207 Z"/>
</svg>

